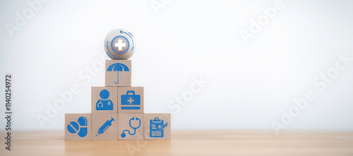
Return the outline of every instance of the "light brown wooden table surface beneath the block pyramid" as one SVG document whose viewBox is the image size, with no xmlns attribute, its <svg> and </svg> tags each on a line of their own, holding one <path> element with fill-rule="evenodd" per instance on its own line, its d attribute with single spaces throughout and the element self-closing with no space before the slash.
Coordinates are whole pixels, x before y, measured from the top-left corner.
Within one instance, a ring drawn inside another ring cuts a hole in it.
<svg viewBox="0 0 353 156">
<path fill-rule="evenodd" d="M 4 132 L 1 140 L 4 142 Z M 353 132 L 172 131 L 172 140 L 64 140 L 64 131 L 13 132 L 0 155 L 353 155 Z"/>
</svg>

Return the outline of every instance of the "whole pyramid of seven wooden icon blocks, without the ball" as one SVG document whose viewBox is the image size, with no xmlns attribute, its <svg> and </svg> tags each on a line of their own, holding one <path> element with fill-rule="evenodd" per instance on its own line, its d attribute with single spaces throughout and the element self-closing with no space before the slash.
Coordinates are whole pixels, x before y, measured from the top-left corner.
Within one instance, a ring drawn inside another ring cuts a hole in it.
<svg viewBox="0 0 353 156">
<path fill-rule="evenodd" d="M 144 113 L 131 70 L 131 60 L 105 61 L 105 86 L 91 88 L 92 114 L 65 114 L 65 140 L 170 140 L 170 114 Z"/>
</svg>

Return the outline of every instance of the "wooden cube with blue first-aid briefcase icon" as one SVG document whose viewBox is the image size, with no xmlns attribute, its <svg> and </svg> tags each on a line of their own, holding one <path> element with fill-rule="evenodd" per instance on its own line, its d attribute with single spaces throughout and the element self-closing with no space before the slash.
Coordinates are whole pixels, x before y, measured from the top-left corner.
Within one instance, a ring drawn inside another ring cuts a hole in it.
<svg viewBox="0 0 353 156">
<path fill-rule="evenodd" d="M 118 113 L 143 114 L 143 87 L 118 88 Z"/>
</svg>

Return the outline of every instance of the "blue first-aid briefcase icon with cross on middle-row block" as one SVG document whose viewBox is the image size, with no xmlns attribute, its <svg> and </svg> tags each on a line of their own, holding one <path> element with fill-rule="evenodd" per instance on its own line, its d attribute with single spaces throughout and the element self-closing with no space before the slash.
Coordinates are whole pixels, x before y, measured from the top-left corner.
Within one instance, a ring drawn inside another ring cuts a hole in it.
<svg viewBox="0 0 353 156">
<path fill-rule="evenodd" d="M 140 109 L 141 96 L 135 91 L 128 90 L 126 95 L 121 95 L 121 109 Z"/>
</svg>

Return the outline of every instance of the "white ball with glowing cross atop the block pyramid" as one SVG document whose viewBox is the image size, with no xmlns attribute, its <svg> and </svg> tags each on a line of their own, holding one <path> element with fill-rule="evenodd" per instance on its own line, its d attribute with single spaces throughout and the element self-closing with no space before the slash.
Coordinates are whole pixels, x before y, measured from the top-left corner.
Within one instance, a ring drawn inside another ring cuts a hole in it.
<svg viewBox="0 0 353 156">
<path fill-rule="evenodd" d="M 128 30 L 115 29 L 105 37 L 104 49 L 110 59 L 128 59 L 135 52 L 136 42 Z"/>
</svg>

